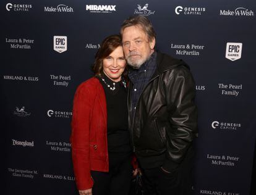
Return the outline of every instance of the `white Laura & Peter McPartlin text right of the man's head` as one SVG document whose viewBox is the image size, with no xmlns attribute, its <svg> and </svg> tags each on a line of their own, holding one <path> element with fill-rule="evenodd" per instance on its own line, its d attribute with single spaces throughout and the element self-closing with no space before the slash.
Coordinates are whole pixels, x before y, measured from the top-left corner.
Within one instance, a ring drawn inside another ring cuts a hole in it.
<svg viewBox="0 0 256 195">
<path fill-rule="evenodd" d="M 176 55 L 182 56 L 200 56 L 200 52 L 205 49 L 205 46 L 198 44 L 174 44 L 171 43 L 171 49 L 174 49 Z"/>
</svg>

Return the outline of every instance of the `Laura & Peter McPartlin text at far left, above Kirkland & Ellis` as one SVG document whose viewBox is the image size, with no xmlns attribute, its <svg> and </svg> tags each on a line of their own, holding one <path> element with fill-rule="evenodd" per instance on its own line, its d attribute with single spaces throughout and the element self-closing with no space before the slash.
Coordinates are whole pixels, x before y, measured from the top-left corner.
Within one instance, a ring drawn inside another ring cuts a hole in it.
<svg viewBox="0 0 256 195">
<path fill-rule="evenodd" d="M 34 39 L 10 39 L 6 38 L 6 43 L 10 44 L 11 49 L 31 49 Z"/>
</svg>

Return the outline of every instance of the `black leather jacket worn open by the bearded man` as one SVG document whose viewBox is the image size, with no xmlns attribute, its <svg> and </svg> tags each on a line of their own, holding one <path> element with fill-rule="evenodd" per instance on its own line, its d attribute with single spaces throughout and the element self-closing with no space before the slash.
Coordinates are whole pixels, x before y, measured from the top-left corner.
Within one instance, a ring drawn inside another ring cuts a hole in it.
<svg viewBox="0 0 256 195">
<path fill-rule="evenodd" d="M 129 129 L 137 156 L 165 155 L 163 168 L 181 164 L 197 134 L 195 83 L 182 60 L 157 53 L 157 68 L 143 89 L 132 117 L 129 84 Z"/>
</svg>

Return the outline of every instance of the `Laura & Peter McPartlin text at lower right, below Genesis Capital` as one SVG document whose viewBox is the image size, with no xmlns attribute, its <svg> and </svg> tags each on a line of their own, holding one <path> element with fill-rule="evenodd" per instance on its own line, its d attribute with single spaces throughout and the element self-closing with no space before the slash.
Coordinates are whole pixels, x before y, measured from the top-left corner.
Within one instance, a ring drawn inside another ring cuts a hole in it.
<svg viewBox="0 0 256 195">
<path fill-rule="evenodd" d="M 207 154 L 207 159 L 211 160 L 212 165 L 234 167 L 237 164 L 237 162 L 239 162 L 240 158 L 231 155 L 220 156 Z"/>
</svg>

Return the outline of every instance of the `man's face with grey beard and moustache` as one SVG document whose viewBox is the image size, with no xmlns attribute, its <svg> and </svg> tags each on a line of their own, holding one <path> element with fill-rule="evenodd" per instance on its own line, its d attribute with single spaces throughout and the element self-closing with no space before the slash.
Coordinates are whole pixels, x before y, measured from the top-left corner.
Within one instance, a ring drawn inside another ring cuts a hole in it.
<svg viewBox="0 0 256 195">
<path fill-rule="evenodd" d="M 140 26 L 127 27 L 122 32 L 122 45 L 128 64 L 140 68 L 153 53 L 155 38 L 149 41 Z"/>
</svg>

